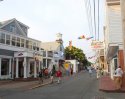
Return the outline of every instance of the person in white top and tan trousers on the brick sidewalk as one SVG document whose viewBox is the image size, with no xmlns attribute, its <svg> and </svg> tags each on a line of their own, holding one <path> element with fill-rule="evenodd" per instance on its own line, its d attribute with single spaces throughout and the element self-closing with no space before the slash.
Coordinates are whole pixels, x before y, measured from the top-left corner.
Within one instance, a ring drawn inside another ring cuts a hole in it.
<svg viewBox="0 0 125 99">
<path fill-rule="evenodd" d="M 115 70 L 115 83 L 116 83 L 116 87 L 119 90 L 122 86 L 122 76 L 123 76 L 123 71 L 121 69 L 121 66 L 119 66 L 116 70 Z"/>
</svg>

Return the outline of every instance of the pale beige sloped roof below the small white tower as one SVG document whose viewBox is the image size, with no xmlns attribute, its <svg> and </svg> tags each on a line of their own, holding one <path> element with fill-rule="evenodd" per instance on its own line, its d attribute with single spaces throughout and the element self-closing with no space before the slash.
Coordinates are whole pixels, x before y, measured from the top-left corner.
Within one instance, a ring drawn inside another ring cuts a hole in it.
<svg viewBox="0 0 125 99">
<path fill-rule="evenodd" d="M 41 48 L 43 48 L 44 50 L 48 50 L 48 51 L 55 51 L 57 50 L 57 48 L 60 46 L 59 43 L 57 43 L 56 41 L 54 42 L 42 42 L 41 43 Z"/>
</svg>

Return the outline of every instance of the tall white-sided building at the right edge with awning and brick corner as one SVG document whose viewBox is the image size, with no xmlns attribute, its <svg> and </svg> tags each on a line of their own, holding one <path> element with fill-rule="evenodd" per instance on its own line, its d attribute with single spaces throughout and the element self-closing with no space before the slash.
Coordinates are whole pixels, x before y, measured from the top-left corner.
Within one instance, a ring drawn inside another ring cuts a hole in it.
<svg viewBox="0 0 125 99">
<path fill-rule="evenodd" d="M 119 65 L 124 69 L 120 0 L 106 0 L 104 37 L 106 60 L 113 79 L 114 71 Z"/>
</svg>

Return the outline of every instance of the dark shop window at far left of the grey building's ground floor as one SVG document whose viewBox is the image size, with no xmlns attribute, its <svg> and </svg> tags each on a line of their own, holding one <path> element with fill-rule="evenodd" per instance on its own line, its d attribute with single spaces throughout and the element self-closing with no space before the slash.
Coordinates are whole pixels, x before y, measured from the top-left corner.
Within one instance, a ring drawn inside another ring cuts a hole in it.
<svg viewBox="0 0 125 99">
<path fill-rule="evenodd" d="M 9 74 L 9 59 L 2 59 L 1 61 L 1 75 Z"/>
</svg>

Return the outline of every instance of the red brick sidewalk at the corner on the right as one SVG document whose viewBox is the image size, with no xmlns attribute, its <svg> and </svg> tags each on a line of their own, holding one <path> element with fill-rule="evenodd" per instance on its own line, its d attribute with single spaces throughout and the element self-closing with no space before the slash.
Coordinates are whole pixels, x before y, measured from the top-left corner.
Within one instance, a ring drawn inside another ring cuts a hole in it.
<svg viewBox="0 0 125 99">
<path fill-rule="evenodd" d="M 121 90 L 116 89 L 115 82 L 109 76 L 103 76 L 99 79 L 99 90 L 105 92 L 125 92 L 125 85 Z"/>
</svg>

